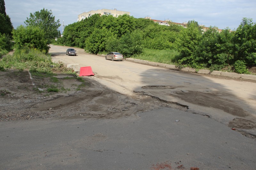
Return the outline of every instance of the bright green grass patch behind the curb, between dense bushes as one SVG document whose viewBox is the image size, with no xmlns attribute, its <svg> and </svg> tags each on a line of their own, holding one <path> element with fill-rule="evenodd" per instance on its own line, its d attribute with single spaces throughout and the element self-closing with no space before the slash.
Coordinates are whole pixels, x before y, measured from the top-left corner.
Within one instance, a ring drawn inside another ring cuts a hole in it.
<svg viewBox="0 0 256 170">
<path fill-rule="evenodd" d="M 180 53 L 171 49 L 156 50 L 144 48 L 140 55 L 133 55 L 132 58 L 156 63 L 176 64 L 180 59 Z"/>
</svg>

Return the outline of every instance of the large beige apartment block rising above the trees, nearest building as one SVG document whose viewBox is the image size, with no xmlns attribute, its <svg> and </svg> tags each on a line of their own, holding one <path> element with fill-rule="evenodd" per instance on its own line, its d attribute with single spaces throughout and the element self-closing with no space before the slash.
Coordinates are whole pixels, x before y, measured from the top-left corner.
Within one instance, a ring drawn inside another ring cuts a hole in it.
<svg viewBox="0 0 256 170">
<path fill-rule="evenodd" d="M 78 15 L 77 21 L 81 21 L 82 19 L 89 18 L 93 14 L 100 14 L 100 15 L 112 15 L 113 17 L 118 17 L 119 15 L 130 15 L 130 12 L 127 11 L 117 11 L 116 8 L 114 10 L 108 9 L 101 9 L 101 10 L 92 10 L 89 12 L 83 12 Z"/>
</svg>

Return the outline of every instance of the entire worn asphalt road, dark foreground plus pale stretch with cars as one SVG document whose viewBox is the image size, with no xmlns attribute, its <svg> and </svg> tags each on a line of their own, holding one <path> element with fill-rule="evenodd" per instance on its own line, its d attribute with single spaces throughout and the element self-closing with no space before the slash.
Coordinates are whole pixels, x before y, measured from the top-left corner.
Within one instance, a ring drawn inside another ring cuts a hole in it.
<svg viewBox="0 0 256 170">
<path fill-rule="evenodd" d="M 106 61 L 83 49 L 66 56 L 65 49 L 52 46 L 53 61 L 91 66 L 95 77 L 90 78 L 112 89 L 127 95 L 144 92 L 187 105 L 189 111 L 161 108 L 118 119 L 0 122 L 0 169 L 255 169 L 256 141 L 225 124 L 241 115 L 171 95 L 183 91 L 198 97 L 207 91 L 249 113 L 244 119 L 253 119 L 255 83 Z"/>
</svg>

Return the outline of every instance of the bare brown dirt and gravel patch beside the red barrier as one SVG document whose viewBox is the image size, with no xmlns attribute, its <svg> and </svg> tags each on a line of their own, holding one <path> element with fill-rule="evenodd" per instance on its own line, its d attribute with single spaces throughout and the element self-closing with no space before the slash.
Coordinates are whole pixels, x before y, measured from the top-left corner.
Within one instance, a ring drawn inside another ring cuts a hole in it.
<svg viewBox="0 0 256 170">
<path fill-rule="evenodd" d="M 141 93 L 128 97 L 93 79 L 84 79 L 81 86 L 76 76 L 68 74 L 56 73 L 51 78 L 31 76 L 28 71 L 1 71 L 0 121 L 54 117 L 115 119 L 159 107 L 187 109 Z M 59 92 L 48 92 L 52 87 Z"/>
</svg>

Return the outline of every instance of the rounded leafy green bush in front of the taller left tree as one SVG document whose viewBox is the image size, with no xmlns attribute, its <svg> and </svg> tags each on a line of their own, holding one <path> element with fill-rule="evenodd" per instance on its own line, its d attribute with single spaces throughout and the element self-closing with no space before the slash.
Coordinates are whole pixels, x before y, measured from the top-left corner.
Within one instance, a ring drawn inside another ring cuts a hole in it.
<svg viewBox="0 0 256 170">
<path fill-rule="evenodd" d="M 21 49 L 23 47 L 36 48 L 40 51 L 48 52 L 49 46 L 47 40 L 44 38 L 44 30 L 37 26 L 18 26 L 13 30 L 14 47 Z"/>
</svg>

